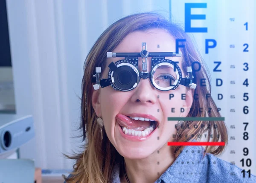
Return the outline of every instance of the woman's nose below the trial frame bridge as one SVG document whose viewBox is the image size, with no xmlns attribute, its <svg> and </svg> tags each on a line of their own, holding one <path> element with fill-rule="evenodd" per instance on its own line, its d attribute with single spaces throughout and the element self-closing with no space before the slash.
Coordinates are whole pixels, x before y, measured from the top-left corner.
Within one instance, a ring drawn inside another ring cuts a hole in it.
<svg viewBox="0 0 256 183">
<path fill-rule="evenodd" d="M 152 86 L 150 79 L 140 79 L 139 84 L 134 88 L 132 96 L 133 102 L 141 102 L 142 104 L 154 104 L 157 100 L 156 89 Z"/>
</svg>

